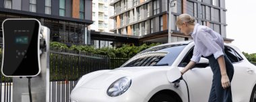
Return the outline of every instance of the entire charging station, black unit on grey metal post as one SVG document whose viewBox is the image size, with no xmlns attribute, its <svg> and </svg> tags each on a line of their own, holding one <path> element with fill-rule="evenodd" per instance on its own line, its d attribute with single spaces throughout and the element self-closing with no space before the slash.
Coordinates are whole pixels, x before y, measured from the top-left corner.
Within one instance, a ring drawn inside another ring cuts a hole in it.
<svg viewBox="0 0 256 102">
<path fill-rule="evenodd" d="M 37 19 L 5 19 L 2 28 L 1 72 L 13 79 L 12 101 L 49 101 L 49 28 Z"/>
</svg>

